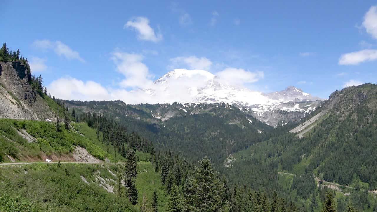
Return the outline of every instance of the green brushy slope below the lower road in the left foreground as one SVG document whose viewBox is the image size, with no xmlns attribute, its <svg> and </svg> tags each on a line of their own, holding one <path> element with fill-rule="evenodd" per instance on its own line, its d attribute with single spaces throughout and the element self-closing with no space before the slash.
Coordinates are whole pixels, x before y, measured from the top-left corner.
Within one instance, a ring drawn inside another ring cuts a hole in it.
<svg viewBox="0 0 377 212">
<path fill-rule="evenodd" d="M 153 171 L 150 163 L 138 165 L 136 180 L 139 190 L 138 204 L 132 206 L 126 197 L 118 197 L 116 194 L 118 184 L 115 182 L 118 182 L 117 173 L 121 169 L 123 169 L 121 164 L 62 163 L 61 167 L 58 167 L 58 164 L 0 166 L 0 211 L 9 209 L 6 208 L 6 204 L 17 206 L 15 199 L 26 206 L 31 206 L 34 210 L 30 211 L 138 211 L 144 193 L 150 205 L 154 189 L 157 190 L 159 205 L 165 205 L 167 194 L 162 190 L 159 175 Z M 95 175 L 105 180 L 109 179 L 107 182 L 114 187 L 115 194 L 100 187 Z M 90 184 L 84 183 L 81 176 Z M 163 207 L 160 208 L 162 209 Z M 28 210 L 22 208 L 14 211 Z"/>
</svg>

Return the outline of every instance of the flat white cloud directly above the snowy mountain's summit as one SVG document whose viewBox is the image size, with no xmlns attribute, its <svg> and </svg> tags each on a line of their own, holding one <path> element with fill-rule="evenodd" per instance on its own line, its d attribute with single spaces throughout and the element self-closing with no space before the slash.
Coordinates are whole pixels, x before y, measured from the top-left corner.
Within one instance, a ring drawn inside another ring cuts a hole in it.
<svg viewBox="0 0 377 212">
<path fill-rule="evenodd" d="M 175 57 L 170 58 L 171 65 L 169 69 L 188 68 L 188 69 L 201 69 L 208 71 L 212 62 L 207 57 L 196 57 L 195 55 L 189 57 Z"/>
</svg>

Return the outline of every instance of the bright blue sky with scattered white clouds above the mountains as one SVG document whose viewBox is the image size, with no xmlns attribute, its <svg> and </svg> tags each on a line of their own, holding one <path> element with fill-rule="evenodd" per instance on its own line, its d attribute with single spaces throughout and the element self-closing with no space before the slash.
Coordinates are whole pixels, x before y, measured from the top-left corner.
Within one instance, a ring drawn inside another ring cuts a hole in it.
<svg viewBox="0 0 377 212">
<path fill-rule="evenodd" d="M 173 68 L 213 74 L 242 69 L 247 77 L 240 83 L 250 89 L 293 85 L 328 98 L 349 84 L 377 82 L 376 6 L 376 1 L 7 1 L 0 40 L 19 48 L 61 98 L 99 100 L 114 90 L 144 88 Z M 72 81 L 81 94 L 67 89 Z"/>
</svg>

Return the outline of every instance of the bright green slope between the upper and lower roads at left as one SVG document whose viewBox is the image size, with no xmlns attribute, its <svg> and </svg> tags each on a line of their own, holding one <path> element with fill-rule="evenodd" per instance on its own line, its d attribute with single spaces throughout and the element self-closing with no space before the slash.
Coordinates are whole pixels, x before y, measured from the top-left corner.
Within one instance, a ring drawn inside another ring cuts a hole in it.
<svg viewBox="0 0 377 212">
<path fill-rule="evenodd" d="M 36 138 L 36 142 L 28 143 L 17 130 L 26 130 L 28 134 Z M 69 154 L 74 150 L 74 146 L 82 146 L 94 157 L 104 160 L 105 157 L 113 160 L 111 154 L 107 153 L 98 142 L 83 137 L 77 132 L 66 130 L 60 126 L 57 132 L 55 123 L 35 120 L 13 120 L 0 119 L 0 134 L 9 138 L 0 137 L 0 149 L 6 149 L 3 154 L 12 155 L 19 158 L 21 153 L 25 156 L 38 157 L 42 152 L 46 155 Z M 0 152 L 1 154 L 2 152 Z M 4 157 L 3 157 L 4 158 Z"/>
</svg>

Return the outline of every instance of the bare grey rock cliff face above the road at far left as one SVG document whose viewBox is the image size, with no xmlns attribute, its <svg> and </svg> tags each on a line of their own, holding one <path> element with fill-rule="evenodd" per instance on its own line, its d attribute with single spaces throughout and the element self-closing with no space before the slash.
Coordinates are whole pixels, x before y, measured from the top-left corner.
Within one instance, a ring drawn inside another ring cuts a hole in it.
<svg viewBox="0 0 377 212">
<path fill-rule="evenodd" d="M 55 120 L 46 100 L 33 91 L 20 61 L 0 61 L 0 118 Z"/>
</svg>

